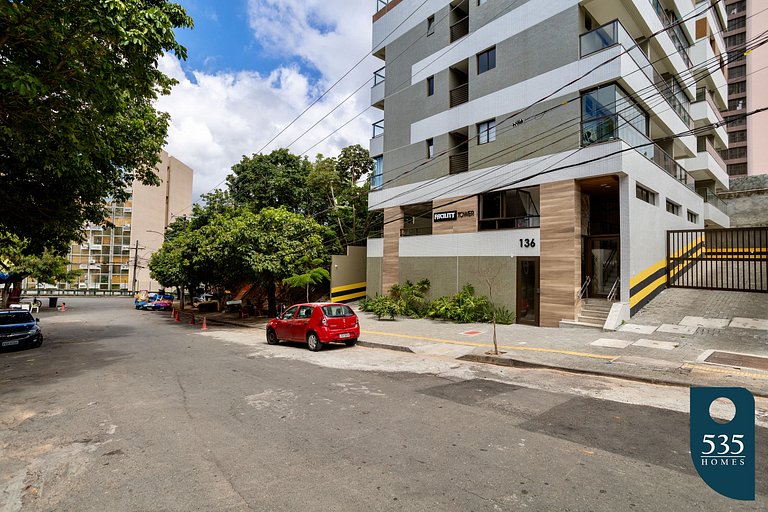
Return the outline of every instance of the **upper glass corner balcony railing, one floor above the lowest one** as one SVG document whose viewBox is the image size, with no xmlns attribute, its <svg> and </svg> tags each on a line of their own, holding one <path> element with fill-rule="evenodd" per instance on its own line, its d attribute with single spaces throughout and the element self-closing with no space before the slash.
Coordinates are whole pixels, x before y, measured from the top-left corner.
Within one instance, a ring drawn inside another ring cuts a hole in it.
<svg viewBox="0 0 768 512">
<path fill-rule="evenodd" d="M 672 93 L 669 85 L 661 78 L 648 60 L 648 56 L 637 46 L 635 40 L 629 35 L 627 29 L 619 20 L 613 20 L 605 25 L 598 27 L 591 32 L 582 34 L 579 38 L 581 57 L 596 53 L 605 48 L 616 45 L 622 45 L 628 50 L 629 55 L 635 61 L 635 64 L 641 69 L 645 76 L 653 83 L 656 90 L 667 100 L 672 110 L 674 110 L 686 126 L 691 126 L 691 115 L 688 112 L 687 105 L 683 104 Z"/>
</svg>

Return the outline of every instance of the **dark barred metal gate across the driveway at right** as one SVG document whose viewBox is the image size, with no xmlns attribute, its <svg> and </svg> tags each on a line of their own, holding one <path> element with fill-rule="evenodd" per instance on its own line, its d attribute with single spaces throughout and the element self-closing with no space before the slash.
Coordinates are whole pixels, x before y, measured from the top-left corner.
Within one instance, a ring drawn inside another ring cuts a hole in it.
<svg viewBox="0 0 768 512">
<path fill-rule="evenodd" d="M 768 292 L 768 228 L 667 231 L 667 286 Z"/>
</svg>

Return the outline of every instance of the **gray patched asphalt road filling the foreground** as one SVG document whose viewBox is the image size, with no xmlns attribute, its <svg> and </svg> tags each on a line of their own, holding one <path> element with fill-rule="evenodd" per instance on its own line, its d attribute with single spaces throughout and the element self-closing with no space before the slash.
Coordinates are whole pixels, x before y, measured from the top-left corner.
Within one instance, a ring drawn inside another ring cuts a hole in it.
<svg viewBox="0 0 768 512">
<path fill-rule="evenodd" d="M 267 346 L 258 329 L 202 333 L 127 300 L 67 303 L 41 312 L 42 348 L 0 354 L 2 512 L 767 504 L 764 429 L 758 500 L 720 497 L 690 460 L 685 390 L 362 347 L 311 353 Z"/>
</svg>

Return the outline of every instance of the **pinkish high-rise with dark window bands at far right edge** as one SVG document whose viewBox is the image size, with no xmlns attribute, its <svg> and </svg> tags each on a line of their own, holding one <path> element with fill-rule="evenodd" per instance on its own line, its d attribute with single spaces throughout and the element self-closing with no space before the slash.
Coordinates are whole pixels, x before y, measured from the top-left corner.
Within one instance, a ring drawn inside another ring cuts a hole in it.
<svg viewBox="0 0 768 512">
<path fill-rule="evenodd" d="M 746 51 L 745 45 L 768 30 L 768 11 L 758 0 L 726 0 L 725 46 L 728 51 L 726 118 L 768 105 L 768 49 Z M 745 55 L 745 53 L 747 53 Z M 768 173 L 768 121 L 765 114 L 728 125 L 729 149 L 723 157 L 731 176 Z"/>
</svg>

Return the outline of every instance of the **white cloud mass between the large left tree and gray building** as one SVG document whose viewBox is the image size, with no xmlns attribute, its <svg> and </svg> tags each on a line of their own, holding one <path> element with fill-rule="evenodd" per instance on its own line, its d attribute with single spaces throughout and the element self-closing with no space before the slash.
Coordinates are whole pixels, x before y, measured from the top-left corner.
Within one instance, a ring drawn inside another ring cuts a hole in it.
<svg viewBox="0 0 768 512">
<path fill-rule="evenodd" d="M 285 62 L 269 74 L 191 70 L 194 80 L 190 80 L 183 64 L 174 57 L 168 55 L 160 61 L 160 69 L 179 81 L 169 96 L 157 102 L 159 110 L 171 114 L 166 149 L 194 169 L 195 199 L 223 181 L 243 155 L 259 151 L 320 92 L 370 52 L 371 2 L 344 2 L 342 15 L 338 4 L 320 0 L 249 0 L 248 19 L 254 38 Z M 316 69 L 319 80 L 313 81 L 317 75 L 302 73 L 304 66 L 296 65 L 297 59 Z M 369 57 L 265 151 L 294 141 L 366 83 L 380 65 Z M 369 86 L 363 86 L 353 99 L 298 140 L 291 151 L 306 151 L 366 109 L 370 103 Z M 380 116 L 374 109 L 369 110 L 308 156 L 314 158 L 318 152 L 335 155 L 349 144 L 367 146 L 371 122 Z"/>
</svg>

